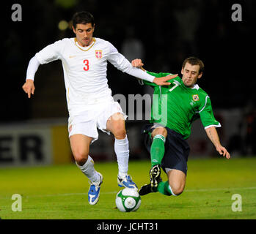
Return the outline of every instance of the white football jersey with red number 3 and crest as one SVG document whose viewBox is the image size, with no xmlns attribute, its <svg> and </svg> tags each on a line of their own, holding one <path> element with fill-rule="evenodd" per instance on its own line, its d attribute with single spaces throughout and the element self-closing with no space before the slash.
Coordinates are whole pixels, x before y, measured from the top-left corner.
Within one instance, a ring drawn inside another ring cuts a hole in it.
<svg viewBox="0 0 256 234">
<path fill-rule="evenodd" d="M 76 38 L 65 38 L 46 46 L 35 56 L 40 64 L 62 61 L 70 115 L 113 100 L 106 78 L 107 61 L 122 72 L 131 69 L 131 63 L 110 42 L 100 38 L 93 38 L 88 47 L 78 45 Z"/>
</svg>

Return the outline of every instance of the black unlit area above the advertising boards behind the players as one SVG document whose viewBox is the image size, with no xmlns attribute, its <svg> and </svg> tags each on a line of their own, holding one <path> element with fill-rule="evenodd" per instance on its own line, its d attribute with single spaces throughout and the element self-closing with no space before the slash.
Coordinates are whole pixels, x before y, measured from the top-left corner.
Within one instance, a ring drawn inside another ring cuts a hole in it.
<svg viewBox="0 0 256 234">
<path fill-rule="evenodd" d="M 21 4 L 21 22 L 11 19 L 14 3 Z M 231 19 L 235 3 L 242 7 L 241 22 Z M 60 31 L 58 23 L 69 22 L 73 13 L 81 10 L 94 15 L 94 36 L 109 40 L 118 50 L 127 38 L 127 29 L 132 27 L 134 37 L 144 47 L 147 70 L 180 74 L 182 61 L 198 56 L 205 63 L 199 85 L 211 97 L 213 108 L 254 105 L 254 6 L 252 0 L 8 1 L 2 8 L 0 122 L 67 117 L 60 61 L 40 66 L 32 99 L 26 97 L 21 87 L 29 59 L 35 53 L 58 39 L 74 37 L 70 29 Z M 183 20 L 179 21 L 180 17 Z M 192 31 L 189 39 L 184 37 L 188 31 Z M 108 78 L 113 95 L 144 92 L 136 79 L 123 75 L 111 64 Z"/>
</svg>

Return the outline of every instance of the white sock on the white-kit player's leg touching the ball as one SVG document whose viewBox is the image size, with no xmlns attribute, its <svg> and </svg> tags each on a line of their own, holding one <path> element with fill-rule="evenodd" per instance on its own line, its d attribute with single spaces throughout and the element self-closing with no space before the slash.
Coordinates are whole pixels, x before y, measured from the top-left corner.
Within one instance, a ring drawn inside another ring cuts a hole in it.
<svg viewBox="0 0 256 234">
<path fill-rule="evenodd" d="M 127 135 L 125 139 L 114 138 L 114 152 L 117 154 L 118 175 L 123 177 L 128 173 L 129 142 Z"/>
</svg>

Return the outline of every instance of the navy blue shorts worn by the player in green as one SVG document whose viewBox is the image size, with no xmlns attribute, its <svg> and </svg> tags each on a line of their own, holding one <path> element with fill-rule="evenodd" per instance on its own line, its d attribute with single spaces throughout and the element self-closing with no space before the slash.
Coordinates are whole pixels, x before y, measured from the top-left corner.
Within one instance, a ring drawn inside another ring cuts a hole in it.
<svg viewBox="0 0 256 234">
<path fill-rule="evenodd" d="M 151 137 L 151 132 L 153 132 L 154 124 L 147 124 L 143 128 L 143 132 L 145 133 L 145 146 L 147 151 L 150 153 L 150 148 L 153 142 Z M 180 133 L 173 131 L 172 129 L 167 129 L 167 139 L 165 141 L 165 151 L 164 158 L 161 162 L 161 167 L 164 172 L 167 173 L 170 169 L 181 170 L 183 173 L 187 173 L 188 166 L 188 157 L 189 157 L 189 144 L 186 140 L 183 139 Z"/>
</svg>

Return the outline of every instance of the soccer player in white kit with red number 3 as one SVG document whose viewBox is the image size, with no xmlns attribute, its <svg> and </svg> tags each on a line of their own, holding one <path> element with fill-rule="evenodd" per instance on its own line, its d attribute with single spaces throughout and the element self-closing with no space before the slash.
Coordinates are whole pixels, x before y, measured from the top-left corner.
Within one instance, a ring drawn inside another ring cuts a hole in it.
<svg viewBox="0 0 256 234">
<path fill-rule="evenodd" d="M 89 204 L 98 203 L 103 176 L 94 168 L 89 156 L 89 146 L 98 139 L 98 129 L 114 135 L 114 151 L 117 155 L 117 184 L 137 189 L 128 175 L 129 146 L 125 131 L 125 113 L 118 102 L 114 102 L 106 78 L 107 61 L 136 78 L 158 85 L 169 85 L 166 81 L 175 75 L 155 78 L 141 69 L 131 66 L 110 42 L 92 37 L 94 18 L 89 12 L 73 15 L 75 38 L 65 38 L 48 45 L 29 61 L 26 83 L 23 90 L 31 97 L 34 94 L 34 75 L 40 64 L 56 59 L 62 61 L 64 71 L 67 108 L 69 112 L 68 132 L 70 146 L 76 165 L 89 178 Z"/>
</svg>

